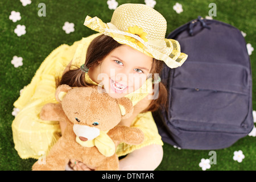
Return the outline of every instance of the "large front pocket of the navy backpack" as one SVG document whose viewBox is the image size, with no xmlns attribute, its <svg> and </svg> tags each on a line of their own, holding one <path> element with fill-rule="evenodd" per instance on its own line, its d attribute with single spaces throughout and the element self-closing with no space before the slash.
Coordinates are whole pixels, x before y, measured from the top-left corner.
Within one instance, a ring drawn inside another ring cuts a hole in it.
<svg viewBox="0 0 256 182">
<path fill-rule="evenodd" d="M 246 133 L 249 74 L 240 65 L 184 64 L 174 72 L 169 121 L 190 131 Z"/>
</svg>

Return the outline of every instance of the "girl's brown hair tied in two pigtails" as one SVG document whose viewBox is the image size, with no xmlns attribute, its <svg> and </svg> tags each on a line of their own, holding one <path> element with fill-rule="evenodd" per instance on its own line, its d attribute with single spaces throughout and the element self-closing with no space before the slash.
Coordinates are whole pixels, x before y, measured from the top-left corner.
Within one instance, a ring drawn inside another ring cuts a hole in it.
<svg viewBox="0 0 256 182">
<path fill-rule="evenodd" d="M 85 66 L 96 67 L 99 63 L 98 61 L 103 60 L 106 56 L 109 55 L 111 51 L 115 48 L 121 46 L 116 42 L 112 37 L 106 35 L 97 36 L 92 40 L 89 44 L 89 47 L 86 52 L 85 57 Z M 154 79 L 155 73 L 159 73 L 162 71 L 163 61 L 159 61 L 153 59 L 152 68 L 150 73 L 152 74 L 152 78 Z M 61 79 L 57 81 L 56 85 L 67 84 L 72 87 L 81 87 L 81 86 L 90 86 L 90 84 L 85 82 L 85 72 L 81 71 L 80 68 L 69 69 L 69 71 L 65 72 Z M 153 87 L 157 86 L 153 84 Z M 166 105 L 167 101 L 167 90 L 162 82 L 158 84 L 159 86 L 159 94 L 158 98 L 151 101 L 151 104 L 143 110 L 146 111 L 155 111 L 158 109 L 160 105 Z"/>
</svg>

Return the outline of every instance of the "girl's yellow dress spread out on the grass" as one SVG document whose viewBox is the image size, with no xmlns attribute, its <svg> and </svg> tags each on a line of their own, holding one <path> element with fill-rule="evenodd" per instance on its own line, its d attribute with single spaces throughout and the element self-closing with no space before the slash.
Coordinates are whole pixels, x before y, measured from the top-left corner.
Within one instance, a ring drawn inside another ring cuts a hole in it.
<svg viewBox="0 0 256 182">
<path fill-rule="evenodd" d="M 16 115 L 13 123 L 13 140 L 15 150 L 22 159 L 39 159 L 42 155 L 47 155 L 51 147 L 61 137 L 59 122 L 43 121 L 39 118 L 42 107 L 49 103 L 57 103 L 55 100 L 56 77 L 61 77 L 65 67 L 72 61 L 72 64 L 81 65 L 84 62 L 86 49 L 89 43 L 100 34 L 94 34 L 87 38 L 73 43 L 72 46 L 63 44 L 54 49 L 43 61 L 35 76 L 32 78 L 14 106 L 20 111 Z M 86 74 L 86 81 L 93 82 Z M 133 105 L 146 97 L 147 94 L 137 91 L 128 94 Z M 120 143 L 117 148 L 117 155 L 122 156 L 150 144 L 163 145 L 155 121 L 150 111 L 140 113 L 134 119 L 131 127 L 138 127 L 145 135 L 142 144 L 132 146 Z"/>
</svg>

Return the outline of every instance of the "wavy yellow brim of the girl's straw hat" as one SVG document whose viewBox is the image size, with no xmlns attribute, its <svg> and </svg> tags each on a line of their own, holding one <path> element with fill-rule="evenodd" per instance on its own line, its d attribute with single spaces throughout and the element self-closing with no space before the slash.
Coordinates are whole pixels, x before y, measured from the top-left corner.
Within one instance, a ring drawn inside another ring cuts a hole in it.
<svg viewBox="0 0 256 182">
<path fill-rule="evenodd" d="M 157 60 L 162 60 L 170 68 L 180 67 L 188 57 L 185 53 L 180 52 L 180 44 L 174 39 L 164 39 L 162 42 L 159 40 L 150 40 L 145 42 L 138 35 L 118 30 L 118 28 L 116 28 L 112 23 L 102 22 L 102 20 L 97 16 L 94 18 L 86 16 L 84 25 L 94 31 L 111 36 L 120 44 L 125 44 Z M 127 39 L 127 36 L 138 40 L 144 45 L 144 47 L 131 42 Z"/>
</svg>

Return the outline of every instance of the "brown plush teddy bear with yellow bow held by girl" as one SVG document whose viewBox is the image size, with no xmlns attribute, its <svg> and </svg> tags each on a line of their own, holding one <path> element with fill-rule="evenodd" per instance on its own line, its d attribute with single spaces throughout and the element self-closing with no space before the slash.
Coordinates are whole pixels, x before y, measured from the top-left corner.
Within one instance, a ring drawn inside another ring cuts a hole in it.
<svg viewBox="0 0 256 182">
<path fill-rule="evenodd" d="M 49 150 L 45 163 L 39 160 L 33 171 L 61 171 L 76 159 L 98 171 L 119 169 L 115 154 L 119 142 L 140 144 L 144 134 L 136 127 L 118 125 L 129 118 L 133 105 L 129 98 L 112 98 L 98 86 L 72 88 L 60 85 L 55 93 L 58 103 L 42 107 L 40 118 L 48 121 L 65 121 L 63 135 Z"/>
</svg>

